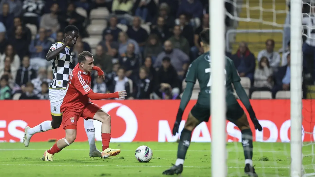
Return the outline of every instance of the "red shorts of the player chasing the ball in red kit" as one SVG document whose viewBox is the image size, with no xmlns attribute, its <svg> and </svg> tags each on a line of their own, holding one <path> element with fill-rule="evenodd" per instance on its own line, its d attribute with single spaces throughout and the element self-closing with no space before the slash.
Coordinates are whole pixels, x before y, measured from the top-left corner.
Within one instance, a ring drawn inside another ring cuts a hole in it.
<svg viewBox="0 0 315 177">
<path fill-rule="evenodd" d="M 102 109 L 100 106 L 89 102 L 87 106 L 83 109 L 68 109 L 62 113 L 62 128 L 65 129 L 66 126 L 69 126 L 68 129 L 77 129 L 77 121 L 80 117 L 83 117 L 84 119 L 93 119 L 95 113 Z"/>
</svg>

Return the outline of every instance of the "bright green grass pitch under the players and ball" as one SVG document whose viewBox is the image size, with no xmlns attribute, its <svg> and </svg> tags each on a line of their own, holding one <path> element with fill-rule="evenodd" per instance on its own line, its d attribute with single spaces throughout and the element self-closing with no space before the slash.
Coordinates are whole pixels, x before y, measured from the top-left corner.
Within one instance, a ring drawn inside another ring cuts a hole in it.
<svg viewBox="0 0 315 177">
<path fill-rule="evenodd" d="M 163 170 L 175 163 L 177 143 L 132 142 L 111 143 L 111 147 L 120 148 L 121 153 L 112 158 L 89 158 L 87 142 L 74 142 L 60 153 L 55 154 L 54 162 L 41 160 L 45 150 L 53 142 L 0 143 L 0 176 L 12 177 L 80 177 L 80 176 L 135 176 L 159 177 Z M 135 159 L 135 150 L 141 145 L 149 146 L 153 158 L 149 163 L 139 163 Z M 101 150 L 101 142 L 97 142 Z M 184 177 L 211 176 L 210 143 L 191 143 L 184 163 Z M 228 176 L 244 176 L 244 156 L 241 143 L 230 142 L 228 150 Z M 312 165 L 312 146 L 303 147 L 303 158 L 307 173 L 314 173 Z M 257 174 L 266 177 L 290 176 L 289 143 L 254 143 L 253 163 Z"/>
</svg>

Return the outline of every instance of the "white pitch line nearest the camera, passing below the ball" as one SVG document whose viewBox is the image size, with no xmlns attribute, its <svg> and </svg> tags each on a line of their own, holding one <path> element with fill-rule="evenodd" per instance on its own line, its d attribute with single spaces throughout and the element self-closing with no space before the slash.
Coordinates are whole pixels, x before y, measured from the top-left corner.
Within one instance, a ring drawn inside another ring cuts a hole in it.
<svg viewBox="0 0 315 177">
<path fill-rule="evenodd" d="M 51 162 L 49 162 L 51 163 Z M 0 164 L 0 166 L 54 166 L 54 167 L 169 167 L 169 166 L 151 166 L 151 165 L 55 165 L 55 164 Z M 210 168 L 210 166 L 184 166 L 185 168 Z M 228 167 L 233 169 L 239 169 L 244 167 Z M 257 169 L 290 169 L 290 167 L 257 167 Z M 313 168 L 304 168 L 304 169 L 313 169 Z"/>
</svg>

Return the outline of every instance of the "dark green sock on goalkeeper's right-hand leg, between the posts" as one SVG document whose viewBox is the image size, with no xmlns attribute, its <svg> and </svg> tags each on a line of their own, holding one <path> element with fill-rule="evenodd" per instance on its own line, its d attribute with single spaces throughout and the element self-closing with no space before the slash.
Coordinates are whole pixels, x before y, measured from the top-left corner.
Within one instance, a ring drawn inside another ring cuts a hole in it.
<svg viewBox="0 0 315 177">
<path fill-rule="evenodd" d="M 242 130 L 242 144 L 244 149 L 245 161 L 253 158 L 253 134 L 252 130 Z"/>
</svg>

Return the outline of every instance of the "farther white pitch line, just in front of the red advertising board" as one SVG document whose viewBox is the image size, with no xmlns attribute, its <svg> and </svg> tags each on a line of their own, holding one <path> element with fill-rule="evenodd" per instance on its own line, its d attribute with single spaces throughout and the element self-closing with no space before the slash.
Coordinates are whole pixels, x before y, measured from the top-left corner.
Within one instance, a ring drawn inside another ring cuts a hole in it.
<svg viewBox="0 0 315 177">
<path fill-rule="evenodd" d="M 47 149 L 0 149 L 0 151 L 46 151 Z M 89 149 L 63 149 L 63 151 L 89 151 Z M 134 151 L 129 149 L 121 149 L 122 151 Z M 154 150 L 157 152 L 177 152 L 177 150 Z M 190 152 L 211 152 L 210 150 L 189 150 Z M 244 151 L 235 151 L 235 150 L 227 150 L 228 152 L 244 152 Z M 258 150 L 258 152 L 285 152 L 286 151 L 264 151 L 263 149 Z"/>
</svg>

